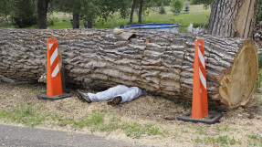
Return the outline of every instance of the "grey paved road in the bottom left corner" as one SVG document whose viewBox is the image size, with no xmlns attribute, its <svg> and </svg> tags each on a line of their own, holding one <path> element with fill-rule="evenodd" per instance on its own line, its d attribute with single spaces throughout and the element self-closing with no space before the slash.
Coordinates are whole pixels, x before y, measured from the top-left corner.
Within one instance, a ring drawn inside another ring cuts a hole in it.
<svg viewBox="0 0 262 147">
<path fill-rule="evenodd" d="M 73 133 L 68 135 L 64 131 L 50 131 L 28 127 L 17 127 L 0 124 L 0 146 L 138 146 L 127 142 L 107 141 L 105 138 L 89 134 Z"/>
</svg>

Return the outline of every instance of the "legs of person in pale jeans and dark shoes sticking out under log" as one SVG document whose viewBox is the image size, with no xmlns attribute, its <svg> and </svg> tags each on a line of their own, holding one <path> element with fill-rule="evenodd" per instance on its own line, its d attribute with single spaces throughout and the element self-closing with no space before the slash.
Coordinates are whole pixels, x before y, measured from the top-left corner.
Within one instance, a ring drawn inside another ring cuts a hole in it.
<svg viewBox="0 0 262 147">
<path fill-rule="evenodd" d="M 84 93 L 79 89 L 76 90 L 77 97 L 79 100 L 91 103 L 92 101 L 110 100 L 109 105 L 119 105 L 123 102 L 128 102 L 137 99 L 141 95 L 146 95 L 145 89 L 138 87 L 127 87 L 125 85 L 118 85 L 116 87 L 101 91 L 98 93 Z"/>
</svg>

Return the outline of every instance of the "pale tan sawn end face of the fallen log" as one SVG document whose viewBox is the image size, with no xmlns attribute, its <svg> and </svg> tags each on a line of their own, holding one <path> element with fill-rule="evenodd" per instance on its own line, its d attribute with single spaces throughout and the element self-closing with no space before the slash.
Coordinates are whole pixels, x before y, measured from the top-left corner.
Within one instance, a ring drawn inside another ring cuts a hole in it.
<svg viewBox="0 0 262 147">
<path fill-rule="evenodd" d="M 247 40 L 240 47 L 231 72 L 220 80 L 220 97 L 230 109 L 245 106 L 257 82 L 258 57 L 254 41 Z"/>
</svg>

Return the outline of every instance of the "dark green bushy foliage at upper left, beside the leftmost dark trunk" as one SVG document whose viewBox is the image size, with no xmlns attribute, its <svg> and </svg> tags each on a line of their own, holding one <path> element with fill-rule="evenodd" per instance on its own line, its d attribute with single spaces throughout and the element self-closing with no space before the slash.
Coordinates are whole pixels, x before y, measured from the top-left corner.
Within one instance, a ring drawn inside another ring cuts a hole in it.
<svg viewBox="0 0 262 147">
<path fill-rule="evenodd" d="M 37 11 L 33 0 L 21 0 L 14 3 L 11 17 L 19 28 L 37 25 Z"/>
</svg>

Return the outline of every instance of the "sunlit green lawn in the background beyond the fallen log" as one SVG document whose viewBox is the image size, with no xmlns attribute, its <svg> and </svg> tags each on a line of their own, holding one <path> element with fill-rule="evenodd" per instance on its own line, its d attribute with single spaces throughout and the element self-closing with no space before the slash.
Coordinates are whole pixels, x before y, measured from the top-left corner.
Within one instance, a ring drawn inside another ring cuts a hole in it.
<svg viewBox="0 0 262 147">
<path fill-rule="evenodd" d="M 182 27 L 182 33 L 185 33 L 185 28 L 189 26 L 190 23 L 194 23 L 195 26 L 204 26 L 204 23 L 207 21 L 210 16 L 210 9 L 204 10 L 203 5 L 190 5 L 189 14 L 184 14 L 183 12 L 179 16 L 174 16 L 170 11 L 169 6 L 165 6 L 166 14 L 161 15 L 158 13 L 158 7 L 152 7 L 148 16 L 142 16 L 142 23 L 180 23 Z M 133 17 L 133 23 L 136 24 L 138 21 L 138 16 L 135 12 Z M 72 15 L 66 13 L 53 13 L 48 14 L 47 24 L 50 29 L 59 29 L 59 28 L 71 28 L 70 19 Z M 53 25 L 51 22 L 53 21 Z M 128 25 L 129 17 L 123 19 L 120 17 L 119 13 L 111 15 L 107 21 L 97 19 L 93 23 L 94 28 L 112 28 L 121 25 Z M 14 27 L 3 25 L 2 27 Z M 84 27 L 84 22 L 80 21 L 80 27 Z M 27 27 L 28 29 L 37 28 L 37 26 Z"/>
</svg>

